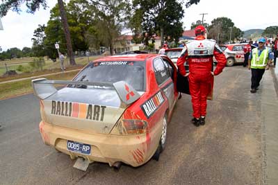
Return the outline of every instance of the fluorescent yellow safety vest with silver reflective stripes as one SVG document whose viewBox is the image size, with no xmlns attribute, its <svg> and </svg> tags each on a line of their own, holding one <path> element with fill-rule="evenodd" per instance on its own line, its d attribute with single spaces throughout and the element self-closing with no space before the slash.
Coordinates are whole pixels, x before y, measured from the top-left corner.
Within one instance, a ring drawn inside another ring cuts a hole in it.
<svg viewBox="0 0 278 185">
<path fill-rule="evenodd" d="M 265 69 L 268 64 L 268 49 L 263 49 L 261 55 L 259 56 L 259 50 L 252 49 L 252 60 L 251 60 L 251 68 L 252 69 Z"/>
</svg>

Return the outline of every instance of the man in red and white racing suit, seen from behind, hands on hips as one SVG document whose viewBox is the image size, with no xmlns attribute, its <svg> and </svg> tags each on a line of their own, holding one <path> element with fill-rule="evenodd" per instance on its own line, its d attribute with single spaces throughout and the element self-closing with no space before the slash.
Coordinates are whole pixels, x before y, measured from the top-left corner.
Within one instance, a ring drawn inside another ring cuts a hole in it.
<svg viewBox="0 0 278 185">
<path fill-rule="evenodd" d="M 227 60 L 224 53 L 215 41 L 204 37 L 206 30 L 204 26 L 195 28 L 196 38 L 186 44 L 178 58 L 177 66 L 182 76 L 188 76 L 191 102 L 193 105 L 193 124 L 195 126 L 205 124 L 206 99 L 213 90 L 213 76 L 222 72 Z M 213 55 L 218 61 L 213 69 Z M 189 73 L 183 66 L 188 61 Z"/>
</svg>

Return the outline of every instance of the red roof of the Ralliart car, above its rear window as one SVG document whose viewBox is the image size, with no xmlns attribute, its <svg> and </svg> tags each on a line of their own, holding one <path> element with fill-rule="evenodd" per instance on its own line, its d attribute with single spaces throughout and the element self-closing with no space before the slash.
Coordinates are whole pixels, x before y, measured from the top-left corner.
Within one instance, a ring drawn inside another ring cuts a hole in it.
<svg viewBox="0 0 278 185">
<path fill-rule="evenodd" d="M 130 55 L 113 55 L 104 58 L 99 58 L 94 62 L 104 61 L 145 61 L 148 58 L 159 56 L 158 54 L 130 54 Z"/>
</svg>

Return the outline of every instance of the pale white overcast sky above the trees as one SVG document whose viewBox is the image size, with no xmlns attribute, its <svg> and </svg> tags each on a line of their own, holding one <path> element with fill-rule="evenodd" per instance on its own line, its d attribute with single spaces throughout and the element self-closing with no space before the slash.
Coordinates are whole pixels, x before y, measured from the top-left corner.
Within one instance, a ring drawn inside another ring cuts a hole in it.
<svg viewBox="0 0 278 185">
<path fill-rule="evenodd" d="M 10 10 L 6 17 L 2 17 L 0 46 L 3 51 L 13 47 L 19 49 L 23 49 L 24 46 L 31 47 L 34 30 L 39 24 L 47 24 L 49 11 L 56 3 L 56 0 L 48 0 L 49 8 L 47 10 L 40 8 L 34 15 L 26 13 L 23 5 L 20 14 Z M 240 30 L 265 29 L 268 26 L 278 26 L 274 7 L 278 7 L 277 0 L 201 0 L 197 5 L 193 4 L 185 9 L 183 26 L 189 30 L 192 22 L 202 20 L 202 15 L 199 14 L 207 13 L 204 15 L 204 22 L 208 24 L 217 17 L 228 17 Z"/>
</svg>

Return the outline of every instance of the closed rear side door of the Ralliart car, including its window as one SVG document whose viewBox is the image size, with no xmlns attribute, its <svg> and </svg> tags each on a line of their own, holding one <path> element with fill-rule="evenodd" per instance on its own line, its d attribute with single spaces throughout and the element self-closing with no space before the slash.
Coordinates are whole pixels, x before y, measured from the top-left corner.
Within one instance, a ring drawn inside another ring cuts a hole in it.
<svg viewBox="0 0 278 185">
<path fill-rule="evenodd" d="M 174 68 L 169 64 L 169 61 L 162 58 L 154 59 L 154 73 L 158 87 L 164 92 L 169 103 L 169 109 L 172 111 L 174 107 L 175 88 L 174 88 Z"/>
</svg>

